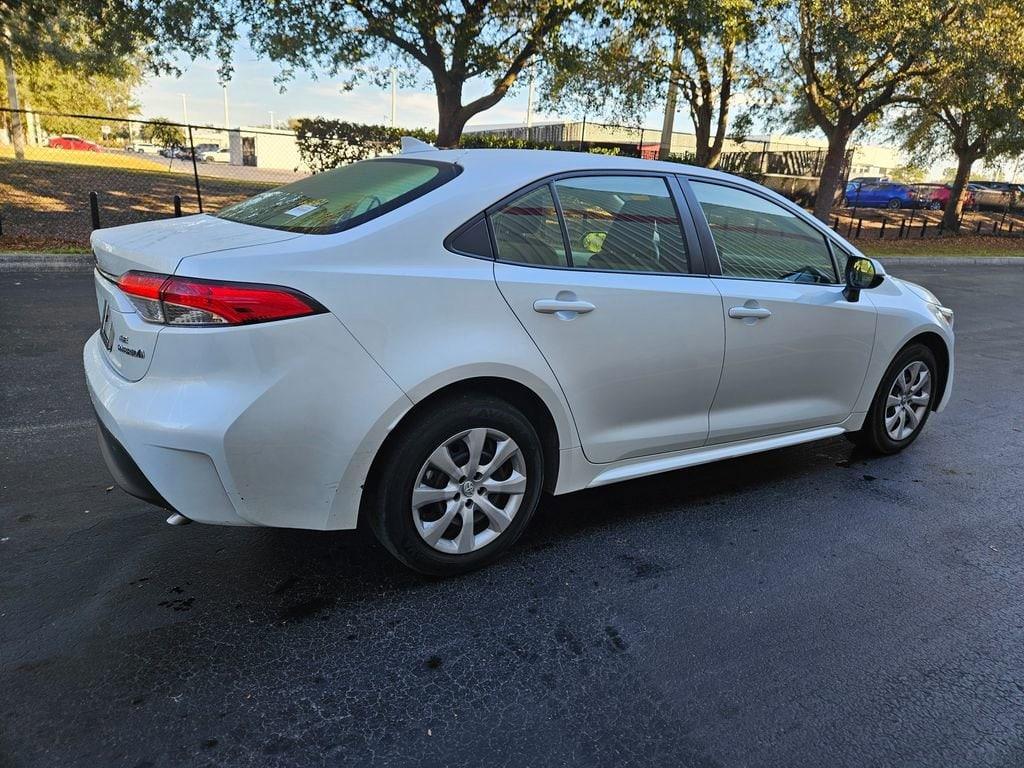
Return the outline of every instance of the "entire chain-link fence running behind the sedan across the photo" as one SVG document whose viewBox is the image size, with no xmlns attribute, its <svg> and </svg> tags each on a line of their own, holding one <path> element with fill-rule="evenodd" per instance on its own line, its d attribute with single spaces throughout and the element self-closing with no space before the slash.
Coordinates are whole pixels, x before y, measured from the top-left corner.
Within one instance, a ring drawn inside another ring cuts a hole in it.
<svg viewBox="0 0 1024 768">
<path fill-rule="evenodd" d="M 0 250 L 81 249 L 88 245 L 90 231 L 100 226 L 214 212 L 307 176 L 310 166 L 319 167 L 324 160 L 317 155 L 323 147 L 317 150 L 316 140 L 309 138 L 317 135 L 309 126 L 297 133 L 260 126 L 223 128 L 93 115 L 17 115 L 24 141 L 15 146 L 11 132 L 14 114 L 0 109 Z M 396 146 L 397 139 L 392 141 L 390 133 L 395 132 L 383 133 L 388 135 L 378 136 L 377 143 L 372 141 L 376 134 L 366 130 L 355 131 L 345 140 L 355 141 L 356 150 L 366 150 L 357 153 L 360 157 L 393 152 L 391 144 Z M 336 134 L 338 131 L 328 130 L 328 138 L 321 138 L 341 141 L 338 135 L 342 134 Z M 660 131 L 650 128 L 579 121 L 475 130 L 467 132 L 464 142 L 653 159 L 658 156 L 660 138 Z M 692 162 L 693 147 L 692 134 L 673 134 L 673 160 Z M 823 159 L 822 148 L 803 144 L 729 140 L 719 168 L 754 178 L 798 203 L 810 204 Z M 957 231 L 1024 236 L 1024 210 L 988 208 L 966 213 Z M 949 233 L 941 225 L 941 211 L 838 207 L 831 223 L 850 238 Z"/>
</svg>

